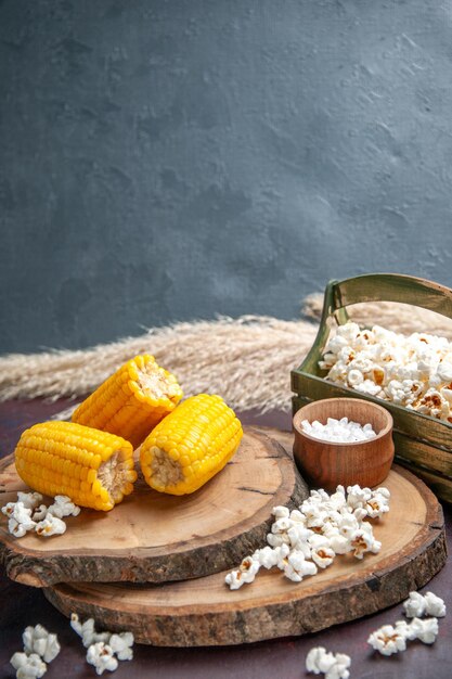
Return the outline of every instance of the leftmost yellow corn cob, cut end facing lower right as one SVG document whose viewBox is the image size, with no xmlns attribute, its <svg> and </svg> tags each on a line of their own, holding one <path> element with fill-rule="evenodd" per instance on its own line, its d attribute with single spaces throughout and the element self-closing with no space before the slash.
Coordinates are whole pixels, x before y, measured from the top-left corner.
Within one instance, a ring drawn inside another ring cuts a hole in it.
<svg viewBox="0 0 452 679">
<path fill-rule="evenodd" d="M 133 490 L 129 441 L 73 422 L 26 430 L 15 449 L 17 474 L 34 490 L 67 495 L 75 504 L 111 510 Z"/>
</svg>

